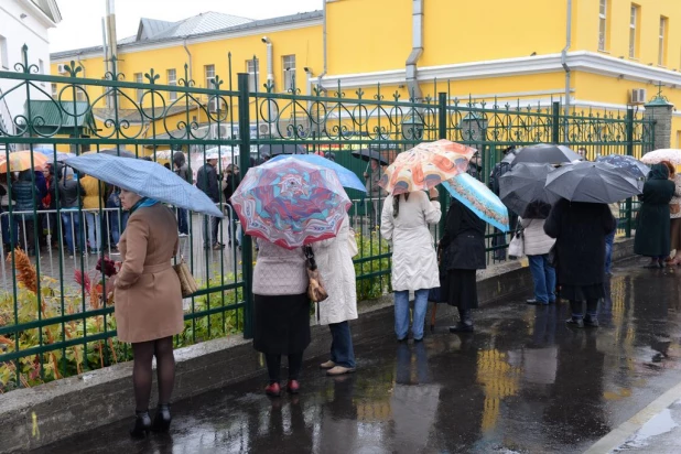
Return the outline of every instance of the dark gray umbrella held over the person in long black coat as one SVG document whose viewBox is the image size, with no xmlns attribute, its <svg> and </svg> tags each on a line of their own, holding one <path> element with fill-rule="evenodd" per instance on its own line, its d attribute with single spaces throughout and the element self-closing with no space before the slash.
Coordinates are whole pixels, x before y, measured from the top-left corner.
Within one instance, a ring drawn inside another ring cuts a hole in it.
<svg viewBox="0 0 681 454">
<path fill-rule="evenodd" d="M 571 202 L 612 204 L 640 194 L 642 186 L 642 181 L 605 162 L 579 162 L 547 176 L 547 190 Z"/>
</svg>

